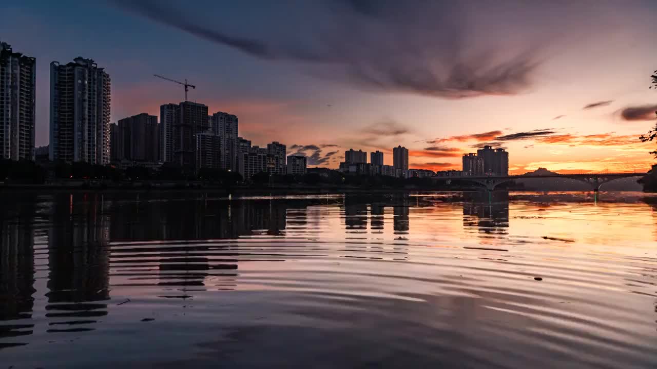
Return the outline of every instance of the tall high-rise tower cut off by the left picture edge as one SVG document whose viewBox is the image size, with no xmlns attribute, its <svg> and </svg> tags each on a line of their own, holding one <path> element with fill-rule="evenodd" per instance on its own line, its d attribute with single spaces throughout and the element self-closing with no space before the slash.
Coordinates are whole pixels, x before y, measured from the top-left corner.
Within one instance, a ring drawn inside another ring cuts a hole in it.
<svg viewBox="0 0 657 369">
<path fill-rule="evenodd" d="M 0 43 L 0 158 L 34 160 L 36 59 Z"/>
</svg>

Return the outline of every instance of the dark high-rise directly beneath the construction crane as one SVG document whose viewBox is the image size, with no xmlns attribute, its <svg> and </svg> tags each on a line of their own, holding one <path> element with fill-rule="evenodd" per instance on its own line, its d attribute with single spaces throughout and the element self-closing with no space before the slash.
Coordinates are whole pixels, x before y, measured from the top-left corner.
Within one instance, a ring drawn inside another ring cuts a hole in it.
<svg viewBox="0 0 657 369">
<path fill-rule="evenodd" d="M 208 130 L 208 106 L 185 101 L 173 125 L 173 162 L 196 169 L 196 135 Z"/>
</svg>

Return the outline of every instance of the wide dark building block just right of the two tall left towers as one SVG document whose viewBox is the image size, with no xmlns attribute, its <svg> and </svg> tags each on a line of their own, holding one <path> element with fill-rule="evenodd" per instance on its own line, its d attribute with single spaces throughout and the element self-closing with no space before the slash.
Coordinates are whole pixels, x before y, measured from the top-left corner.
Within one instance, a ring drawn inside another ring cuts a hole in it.
<svg viewBox="0 0 657 369">
<path fill-rule="evenodd" d="M 133 162 L 158 162 L 160 159 L 160 125 L 158 117 L 147 113 L 120 119 L 114 127 L 112 151 L 117 160 Z M 116 132 L 118 131 L 118 132 Z"/>
</svg>

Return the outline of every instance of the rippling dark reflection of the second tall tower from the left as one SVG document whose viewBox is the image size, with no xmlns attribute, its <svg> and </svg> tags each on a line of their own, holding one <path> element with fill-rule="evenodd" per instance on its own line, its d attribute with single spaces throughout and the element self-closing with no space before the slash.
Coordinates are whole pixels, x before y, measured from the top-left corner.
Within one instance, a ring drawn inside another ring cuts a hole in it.
<svg viewBox="0 0 657 369">
<path fill-rule="evenodd" d="M 47 332 L 93 330 L 107 315 L 109 223 L 100 194 L 57 195 L 48 234 Z"/>
</svg>

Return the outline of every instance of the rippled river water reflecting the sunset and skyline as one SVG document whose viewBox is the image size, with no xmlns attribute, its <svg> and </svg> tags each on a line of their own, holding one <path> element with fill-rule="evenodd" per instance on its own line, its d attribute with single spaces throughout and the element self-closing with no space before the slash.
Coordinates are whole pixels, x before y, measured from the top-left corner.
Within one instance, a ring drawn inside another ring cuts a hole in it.
<svg viewBox="0 0 657 369">
<path fill-rule="evenodd" d="M 0 194 L 0 368 L 654 368 L 644 196 Z"/>
</svg>

